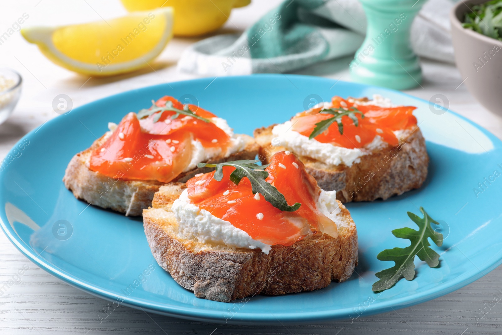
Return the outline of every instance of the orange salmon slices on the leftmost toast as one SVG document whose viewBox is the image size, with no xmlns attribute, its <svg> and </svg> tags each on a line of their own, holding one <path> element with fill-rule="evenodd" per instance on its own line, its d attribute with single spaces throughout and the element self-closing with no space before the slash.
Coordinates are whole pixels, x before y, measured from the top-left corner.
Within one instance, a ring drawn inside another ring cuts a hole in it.
<svg viewBox="0 0 502 335">
<path fill-rule="evenodd" d="M 171 96 L 159 99 L 156 105 L 164 107 L 166 101 L 183 109 L 183 104 Z M 202 118 L 215 117 L 196 105 L 189 108 Z M 113 179 L 169 182 L 190 164 L 192 140 L 200 141 L 204 148 L 226 152 L 229 136 L 213 122 L 184 115 L 173 120 L 173 115 L 175 111 L 164 111 L 160 120 L 154 122 L 154 115 L 138 120 L 135 113 L 129 113 L 91 153 L 90 170 Z"/>
</svg>

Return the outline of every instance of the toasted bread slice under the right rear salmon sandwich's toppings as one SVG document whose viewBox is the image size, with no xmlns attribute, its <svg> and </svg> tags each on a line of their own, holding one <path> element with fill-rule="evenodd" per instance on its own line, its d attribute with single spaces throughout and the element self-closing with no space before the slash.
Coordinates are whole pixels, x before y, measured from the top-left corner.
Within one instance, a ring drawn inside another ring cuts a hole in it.
<svg viewBox="0 0 502 335">
<path fill-rule="evenodd" d="M 268 163 L 276 152 L 287 150 L 272 145 L 272 129 L 275 125 L 255 130 L 256 142 L 260 145 L 259 158 Z M 391 145 L 360 157 L 359 163 L 330 165 L 297 155 L 305 168 L 326 191 L 336 190 L 341 202 L 372 201 L 387 199 L 395 194 L 419 188 L 427 177 L 429 156 L 425 140 L 417 127 L 406 138 L 400 139 L 396 148 Z"/>
</svg>

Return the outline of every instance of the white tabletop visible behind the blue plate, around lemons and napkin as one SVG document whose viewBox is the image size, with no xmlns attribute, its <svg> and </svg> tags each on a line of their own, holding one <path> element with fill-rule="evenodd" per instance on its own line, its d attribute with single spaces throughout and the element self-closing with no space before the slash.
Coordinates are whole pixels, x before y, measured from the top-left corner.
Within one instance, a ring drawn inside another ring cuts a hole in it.
<svg viewBox="0 0 502 335">
<path fill-rule="evenodd" d="M 281 0 L 253 0 L 248 6 L 233 9 L 224 25 L 212 33 L 198 37 L 175 36 L 149 66 L 131 73 L 101 78 L 92 74 L 77 74 L 54 64 L 35 44 L 28 43 L 19 31 L 15 31 L 0 45 L 0 67 L 12 68 L 22 75 L 23 92 L 12 116 L 6 123 L 0 125 L 0 153 L 5 155 L 21 136 L 47 120 L 57 117 L 52 102 L 59 94 L 68 95 L 73 107 L 76 107 L 130 89 L 200 77 L 200 74 L 188 73 L 176 66 L 186 48 L 210 36 L 242 33 L 281 3 L 283 3 Z M 0 32 L 7 32 L 13 23 L 23 17 L 23 14 L 29 18 L 24 20 L 20 25 L 21 28 L 102 22 L 128 14 L 119 0 L 25 0 L 4 2 L 2 8 Z M 340 12 L 345 17 L 350 16 L 348 12 L 342 12 L 342 9 Z M 448 19 L 443 18 L 443 20 L 446 20 L 445 25 L 449 28 Z M 351 80 L 349 63 L 352 58 L 353 54 L 321 61 L 290 73 Z M 502 136 L 500 119 L 488 113 L 468 93 L 463 82 L 465 77 L 460 75 L 454 64 L 424 57 L 420 62 L 423 72 L 421 86 L 407 92 L 426 100 L 433 99 L 434 103 L 439 100 L 433 96 L 441 94 L 440 104 L 467 116 L 497 136 Z"/>
</svg>

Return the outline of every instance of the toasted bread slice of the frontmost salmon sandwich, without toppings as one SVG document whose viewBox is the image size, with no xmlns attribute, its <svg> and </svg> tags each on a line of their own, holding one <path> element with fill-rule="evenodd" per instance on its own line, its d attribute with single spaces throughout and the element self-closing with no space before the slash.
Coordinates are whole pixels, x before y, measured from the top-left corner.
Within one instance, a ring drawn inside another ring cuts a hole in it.
<svg viewBox="0 0 502 335">
<path fill-rule="evenodd" d="M 171 207 L 184 188 L 182 183 L 161 186 L 143 221 L 157 263 L 196 297 L 228 302 L 260 293 L 312 291 L 348 279 L 357 265 L 357 231 L 341 203 L 344 225 L 336 239 L 318 233 L 289 247 L 272 246 L 267 255 L 180 238 Z"/>
</svg>

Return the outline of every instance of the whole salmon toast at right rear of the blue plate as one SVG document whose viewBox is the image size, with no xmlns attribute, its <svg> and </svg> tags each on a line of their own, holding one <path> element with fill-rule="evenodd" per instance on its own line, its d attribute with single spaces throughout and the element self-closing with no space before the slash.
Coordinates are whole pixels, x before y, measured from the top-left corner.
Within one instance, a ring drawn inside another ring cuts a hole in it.
<svg viewBox="0 0 502 335">
<path fill-rule="evenodd" d="M 414 109 L 379 95 L 334 96 L 290 121 L 257 129 L 260 159 L 267 163 L 289 150 L 340 201 L 387 199 L 419 188 L 427 177 L 429 156 Z"/>
</svg>

